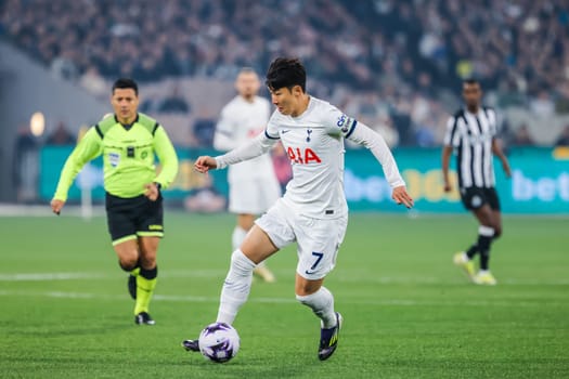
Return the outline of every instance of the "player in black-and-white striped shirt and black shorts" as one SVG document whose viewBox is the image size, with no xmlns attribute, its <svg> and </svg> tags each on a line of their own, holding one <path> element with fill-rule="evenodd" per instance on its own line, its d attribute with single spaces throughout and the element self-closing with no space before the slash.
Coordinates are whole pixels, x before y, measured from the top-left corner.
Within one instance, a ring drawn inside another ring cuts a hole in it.
<svg viewBox="0 0 569 379">
<path fill-rule="evenodd" d="M 481 105 L 482 91 L 477 80 L 463 82 L 462 108 L 449 119 L 442 151 L 444 191 L 452 190 L 449 180 L 450 157 L 456 153 L 458 188 L 464 207 L 478 220 L 478 238 L 466 251 L 454 254 L 454 263 L 464 269 L 468 277 L 479 285 L 495 285 L 489 269 L 490 246 L 502 234 L 500 200 L 495 190 L 493 154 L 502 161 L 509 178 L 509 164 L 496 140 L 496 114 Z M 480 253 L 480 271 L 476 273 L 474 257 Z"/>
</svg>

